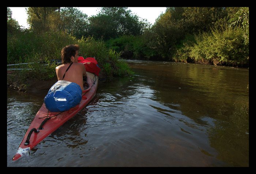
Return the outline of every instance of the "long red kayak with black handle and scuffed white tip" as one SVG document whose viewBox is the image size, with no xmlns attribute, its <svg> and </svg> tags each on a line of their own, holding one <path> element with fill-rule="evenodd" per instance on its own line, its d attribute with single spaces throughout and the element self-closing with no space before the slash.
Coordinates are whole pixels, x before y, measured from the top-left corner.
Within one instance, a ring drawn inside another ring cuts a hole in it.
<svg viewBox="0 0 256 174">
<path fill-rule="evenodd" d="M 13 161 L 25 155 L 30 149 L 33 149 L 39 142 L 48 137 L 68 119 L 72 118 L 93 99 L 98 87 L 98 76 L 87 72 L 87 84 L 89 87 L 82 91 L 81 102 L 68 111 L 50 112 L 45 107 L 45 104 L 42 105 L 20 143 L 16 154 L 12 158 Z"/>
</svg>

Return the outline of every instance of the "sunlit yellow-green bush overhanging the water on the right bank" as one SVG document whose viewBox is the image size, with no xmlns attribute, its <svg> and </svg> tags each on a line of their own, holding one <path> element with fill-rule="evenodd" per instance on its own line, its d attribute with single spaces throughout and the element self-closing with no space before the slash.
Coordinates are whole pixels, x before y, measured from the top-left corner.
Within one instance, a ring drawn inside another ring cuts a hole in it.
<svg viewBox="0 0 256 174">
<path fill-rule="evenodd" d="M 194 43 L 187 41 L 184 47 L 178 50 L 180 59 L 191 58 L 195 62 L 215 65 L 243 66 L 249 63 L 249 46 L 244 45 L 240 28 L 203 32 L 195 35 L 195 40 Z"/>
</svg>

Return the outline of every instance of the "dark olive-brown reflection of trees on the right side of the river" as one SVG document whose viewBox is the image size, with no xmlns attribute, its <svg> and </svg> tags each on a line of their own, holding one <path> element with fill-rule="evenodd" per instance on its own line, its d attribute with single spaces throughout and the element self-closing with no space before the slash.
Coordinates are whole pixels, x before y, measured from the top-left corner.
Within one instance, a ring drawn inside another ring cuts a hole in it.
<svg viewBox="0 0 256 174">
<path fill-rule="evenodd" d="M 249 165 L 247 70 L 155 62 L 132 64 L 132 68 L 144 75 L 138 83 L 154 91 L 153 100 L 207 127 L 210 145 L 220 153 L 218 159 L 231 166 Z"/>
</svg>

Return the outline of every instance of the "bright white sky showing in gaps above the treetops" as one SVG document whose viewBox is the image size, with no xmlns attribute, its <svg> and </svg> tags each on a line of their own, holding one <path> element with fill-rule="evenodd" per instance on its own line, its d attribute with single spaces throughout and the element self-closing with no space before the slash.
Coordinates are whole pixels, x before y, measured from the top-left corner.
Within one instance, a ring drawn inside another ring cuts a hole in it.
<svg viewBox="0 0 256 174">
<path fill-rule="evenodd" d="M 78 7 L 80 11 L 88 15 L 90 17 L 91 15 L 97 15 L 98 11 L 97 9 L 99 7 Z M 19 25 L 28 28 L 27 25 L 27 13 L 25 10 L 25 7 L 10 7 L 12 11 L 12 18 L 16 19 L 16 21 L 19 22 Z M 155 23 L 155 19 L 161 13 L 165 12 L 166 7 L 128 7 L 128 9 L 131 9 L 132 13 L 135 13 L 137 16 L 147 19 L 151 24 Z"/>
</svg>

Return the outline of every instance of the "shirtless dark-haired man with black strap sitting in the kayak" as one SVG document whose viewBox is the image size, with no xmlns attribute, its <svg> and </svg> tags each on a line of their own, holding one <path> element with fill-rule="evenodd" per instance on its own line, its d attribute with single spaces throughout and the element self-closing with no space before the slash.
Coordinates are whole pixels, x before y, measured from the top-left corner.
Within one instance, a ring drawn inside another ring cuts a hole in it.
<svg viewBox="0 0 256 174">
<path fill-rule="evenodd" d="M 58 80 L 76 83 L 83 91 L 83 76 L 86 76 L 86 69 L 83 63 L 78 63 L 78 50 L 79 45 L 65 46 L 61 50 L 63 64 L 56 67 L 56 74 Z"/>
</svg>

